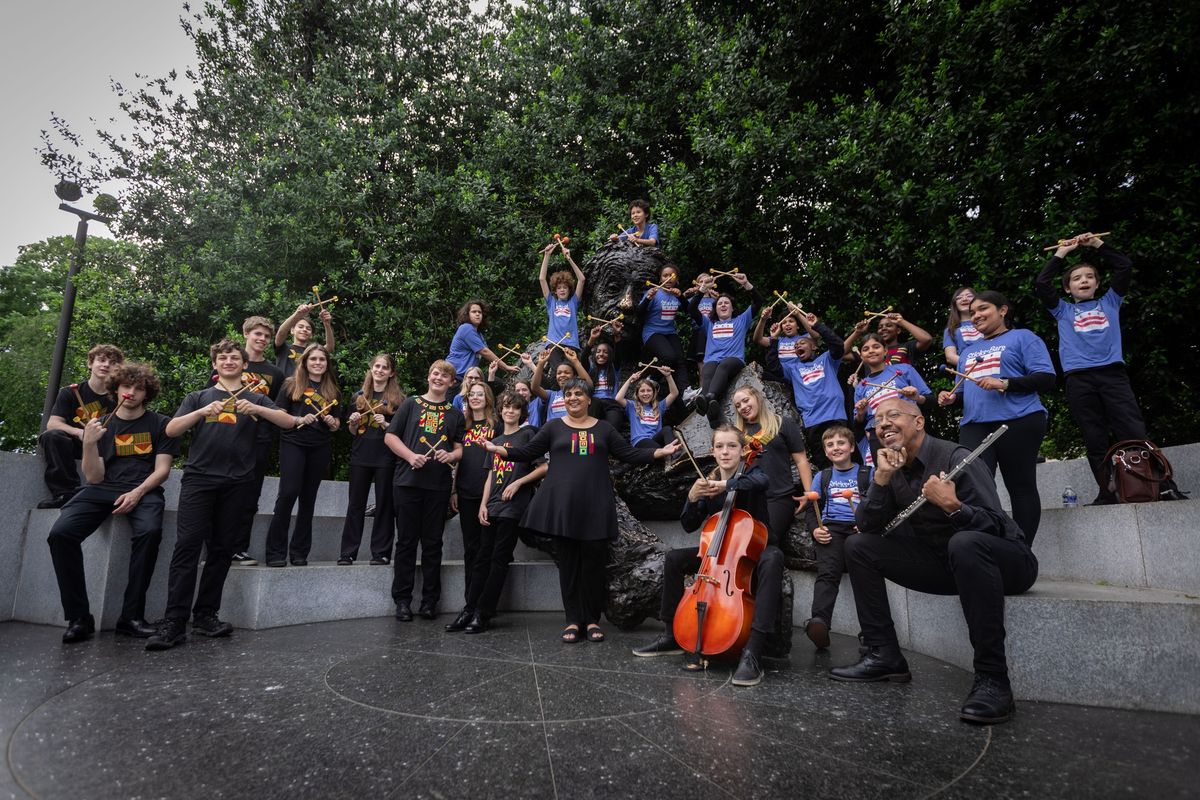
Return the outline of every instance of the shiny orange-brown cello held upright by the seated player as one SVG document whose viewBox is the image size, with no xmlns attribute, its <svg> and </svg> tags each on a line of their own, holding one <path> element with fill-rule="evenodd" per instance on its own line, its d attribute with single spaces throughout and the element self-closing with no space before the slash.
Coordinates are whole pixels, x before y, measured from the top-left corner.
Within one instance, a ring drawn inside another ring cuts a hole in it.
<svg viewBox="0 0 1200 800">
<path fill-rule="evenodd" d="M 751 440 L 734 475 L 754 463 L 760 449 Z M 736 501 L 737 492 L 726 492 L 720 513 L 701 528 L 700 569 L 676 608 L 676 642 L 701 664 L 707 664 L 704 656 L 737 657 L 750 638 L 755 604 L 750 581 L 767 547 L 767 527 L 733 507 Z"/>
</svg>

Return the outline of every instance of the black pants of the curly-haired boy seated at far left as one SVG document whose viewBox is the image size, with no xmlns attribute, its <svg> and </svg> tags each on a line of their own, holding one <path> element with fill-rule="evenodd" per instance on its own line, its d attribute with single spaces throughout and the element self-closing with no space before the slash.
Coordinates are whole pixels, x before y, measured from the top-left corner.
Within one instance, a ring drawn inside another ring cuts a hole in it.
<svg viewBox="0 0 1200 800">
<path fill-rule="evenodd" d="M 85 486 L 62 506 L 59 518 L 50 528 L 47 542 L 54 561 L 54 577 L 59 579 L 59 596 L 62 614 L 70 621 L 91 613 L 88 603 L 88 584 L 83 570 L 83 542 L 96 533 L 102 522 L 113 516 L 113 501 L 124 492 L 119 489 Z M 121 618 L 144 619 L 146 613 L 146 589 L 158 560 L 158 543 L 162 541 L 162 489 L 148 493 L 124 515 L 130 522 L 130 576 L 125 584 L 125 601 Z"/>
</svg>

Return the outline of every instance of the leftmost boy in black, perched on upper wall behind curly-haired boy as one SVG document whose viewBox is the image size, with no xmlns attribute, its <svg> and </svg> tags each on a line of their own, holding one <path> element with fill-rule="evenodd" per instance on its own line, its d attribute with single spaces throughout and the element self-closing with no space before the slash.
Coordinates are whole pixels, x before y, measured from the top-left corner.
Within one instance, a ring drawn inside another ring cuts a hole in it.
<svg viewBox="0 0 1200 800">
<path fill-rule="evenodd" d="M 46 458 L 46 487 L 50 499 L 38 509 L 61 509 L 79 491 L 76 459 L 83 457 L 83 429 L 88 420 L 107 415 L 116 405 L 108 393 L 108 373 L 125 361 L 125 354 L 113 344 L 97 344 L 88 350 L 88 381 L 59 390 L 50 409 L 46 431 L 37 438 Z"/>
</svg>

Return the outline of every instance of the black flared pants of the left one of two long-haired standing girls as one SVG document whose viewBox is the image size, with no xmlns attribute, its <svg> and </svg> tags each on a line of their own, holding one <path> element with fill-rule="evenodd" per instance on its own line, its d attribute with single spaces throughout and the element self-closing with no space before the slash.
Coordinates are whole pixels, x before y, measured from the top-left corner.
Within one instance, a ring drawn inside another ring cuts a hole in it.
<svg viewBox="0 0 1200 800">
<path fill-rule="evenodd" d="M 293 561 L 308 558 L 312 549 L 312 512 L 317 507 L 317 491 L 329 471 L 330 443 L 305 447 L 292 441 L 280 443 L 280 494 L 275 498 L 275 516 L 266 531 L 266 561 L 283 561 L 290 554 Z M 292 506 L 296 509 L 296 522 L 288 546 L 288 525 Z"/>
</svg>

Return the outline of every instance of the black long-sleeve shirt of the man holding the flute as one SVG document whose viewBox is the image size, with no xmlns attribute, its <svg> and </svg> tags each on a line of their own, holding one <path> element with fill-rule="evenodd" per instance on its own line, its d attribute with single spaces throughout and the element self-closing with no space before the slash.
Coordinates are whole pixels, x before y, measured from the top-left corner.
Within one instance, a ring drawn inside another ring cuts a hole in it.
<svg viewBox="0 0 1200 800">
<path fill-rule="evenodd" d="M 896 515 L 920 497 L 920 489 L 930 475 L 949 473 L 970 453 L 970 450 L 953 441 L 925 434 L 917 457 L 898 469 L 887 486 L 871 481 L 866 497 L 854 512 L 858 530 L 863 534 L 882 534 Z M 976 459 L 967 464 L 954 479 L 954 491 L 962 504 L 956 512 L 948 515 L 932 503 L 925 503 L 890 535 L 916 536 L 944 545 L 960 530 L 978 530 L 1002 539 L 1025 541 L 1025 534 L 1000 507 L 996 483 L 983 462 Z"/>
</svg>

